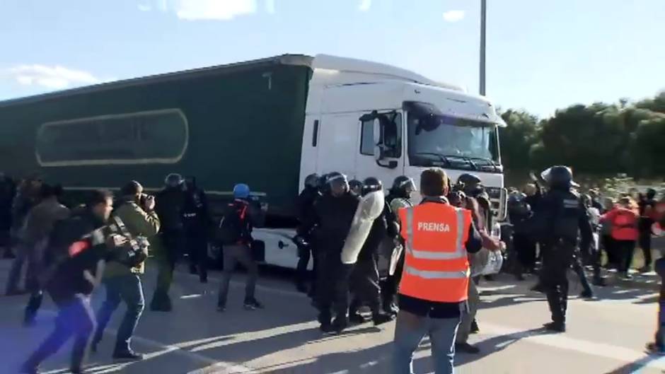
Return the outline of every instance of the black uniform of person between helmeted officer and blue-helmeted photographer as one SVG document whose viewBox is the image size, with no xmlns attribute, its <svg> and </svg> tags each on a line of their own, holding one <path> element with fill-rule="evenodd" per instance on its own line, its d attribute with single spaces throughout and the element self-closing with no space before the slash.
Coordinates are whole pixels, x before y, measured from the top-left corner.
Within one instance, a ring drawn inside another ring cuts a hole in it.
<svg viewBox="0 0 665 374">
<path fill-rule="evenodd" d="M 208 233 L 210 216 L 205 192 L 195 185 L 187 186 L 185 204 L 183 206 L 183 223 L 187 255 L 190 257 L 190 272 L 199 274 L 199 280 L 208 281 Z"/>
</svg>

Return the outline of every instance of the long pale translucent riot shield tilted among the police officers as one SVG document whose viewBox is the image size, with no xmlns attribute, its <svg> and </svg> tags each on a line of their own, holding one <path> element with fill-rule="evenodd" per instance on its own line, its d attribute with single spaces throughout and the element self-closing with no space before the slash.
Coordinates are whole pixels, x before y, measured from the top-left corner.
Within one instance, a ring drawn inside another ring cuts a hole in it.
<svg viewBox="0 0 665 374">
<path fill-rule="evenodd" d="M 369 235 L 372 223 L 381 215 L 384 204 L 383 191 L 370 192 L 360 200 L 351 229 L 342 248 L 342 262 L 355 264 L 362 246 Z"/>
</svg>

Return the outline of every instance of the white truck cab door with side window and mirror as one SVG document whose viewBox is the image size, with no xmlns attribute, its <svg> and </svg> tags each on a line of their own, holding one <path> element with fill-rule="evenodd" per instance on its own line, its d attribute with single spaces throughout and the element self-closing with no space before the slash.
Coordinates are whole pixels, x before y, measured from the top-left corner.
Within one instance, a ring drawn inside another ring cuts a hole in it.
<svg viewBox="0 0 665 374">
<path fill-rule="evenodd" d="M 404 174 L 403 115 L 398 111 L 371 112 L 357 117 L 356 175 L 377 177 L 388 189 Z M 378 131 L 378 134 L 375 132 Z M 378 153 L 383 153 L 377 157 Z"/>
</svg>

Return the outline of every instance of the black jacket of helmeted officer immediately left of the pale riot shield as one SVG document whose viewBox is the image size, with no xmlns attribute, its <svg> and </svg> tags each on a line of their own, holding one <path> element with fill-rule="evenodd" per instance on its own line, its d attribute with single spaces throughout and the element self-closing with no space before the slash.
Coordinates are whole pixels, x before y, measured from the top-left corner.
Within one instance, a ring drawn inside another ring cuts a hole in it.
<svg viewBox="0 0 665 374">
<path fill-rule="evenodd" d="M 358 209 L 359 197 L 348 192 L 341 197 L 325 194 L 315 205 L 315 240 L 324 252 L 342 252 L 349 235 L 353 216 Z"/>
</svg>

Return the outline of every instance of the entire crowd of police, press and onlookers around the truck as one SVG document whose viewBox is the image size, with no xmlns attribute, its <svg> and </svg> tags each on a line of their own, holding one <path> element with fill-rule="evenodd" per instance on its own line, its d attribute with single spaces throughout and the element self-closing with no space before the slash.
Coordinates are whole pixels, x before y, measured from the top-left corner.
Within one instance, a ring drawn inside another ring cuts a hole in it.
<svg viewBox="0 0 665 374">
<path fill-rule="evenodd" d="M 62 188 L 37 178 L 13 187 L 0 176 L 2 227 L 13 252 L 6 293 L 30 293 L 24 323 L 32 325 L 45 293 L 59 310 L 55 328 L 25 361 L 23 373 L 37 373 L 42 361 L 74 338 L 71 371 L 83 373 L 88 349 L 97 351 L 112 313 L 127 305 L 112 352 L 113 358 L 140 360 L 131 340 L 144 310 L 141 277 L 146 259 L 156 257 L 157 285 L 151 310 L 170 312 L 169 297 L 178 259 L 187 254 L 190 271 L 207 282 L 209 242 L 223 247 L 224 269 L 217 310 L 226 310 L 229 281 L 236 264 L 247 269 L 243 306 L 263 308 L 255 298 L 261 246 L 252 231 L 259 214 L 250 187 L 238 184 L 219 221 L 213 221 L 207 199 L 193 178 L 166 177 L 156 196 L 137 181 L 122 186 L 114 197 L 107 191 L 89 194 L 83 206 L 64 206 Z M 584 266 L 593 269 L 592 284 L 603 286 L 601 265 L 630 277 L 636 243 L 652 265 L 650 240 L 659 223 L 656 193 L 637 201 L 630 196 L 602 204 L 598 192 L 579 194 L 569 168 L 555 166 L 524 192 L 509 195 L 509 225 L 501 239 L 493 235 L 490 197 L 476 175 L 455 182 L 444 170 L 425 170 L 420 189 L 407 176 L 397 177 L 383 192 L 374 177 L 347 180 L 342 173 L 310 175 L 296 201 L 299 250 L 296 288 L 308 293 L 318 311 L 323 333 L 342 333 L 351 324 L 369 320 L 382 325 L 397 320 L 395 373 L 412 373 L 412 355 L 428 334 L 436 373 L 452 373 L 456 351 L 478 353 L 468 344 L 478 332 L 478 283 L 502 269 L 524 279 L 538 274 L 535 289 L 548 296 L 552 322 L 545 328 L 565 332 L 568 281 L 572 268 L 593 297 Z M 412 199 L 420 192 L 422 201 Z M 601 250 L 607 264 L 601 264 Z M 648 255 L 647 255 L 648 253 Z M 507 255 L 503 261 L 504 254 Z M 386 269 L 380 266 L 386 259 Z M 538 260 L 540 259 L 540 269 Z M 308 262 L 313 260 L 313 271 Z M 19 286 L 22 267 L 28 271 Z M 656 264 L 659 267 L 659 264 Z M 100 310 L 91 310 L 90 296 L 98 285 L 106 296 Z M 349 298 L 350 295 L 350 298 Z M 664 351 L 657 334 L 651 349 Z"/>
</svg>

